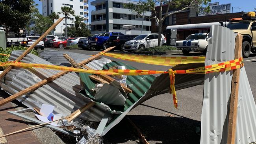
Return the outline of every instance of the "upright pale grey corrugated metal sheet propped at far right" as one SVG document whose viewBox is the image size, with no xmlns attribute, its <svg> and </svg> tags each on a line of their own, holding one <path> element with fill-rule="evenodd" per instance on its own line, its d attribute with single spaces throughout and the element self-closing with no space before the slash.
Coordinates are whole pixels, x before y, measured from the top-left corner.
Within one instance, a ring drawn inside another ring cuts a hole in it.
<svg viewBox="0 0 256 144">
<path fill-rule="evenodd" d="M 208 39 L 205 65 L 234 59 L 236 34 L 213 25 Z M 204 100 L 201 116 L 201 144 L 226 144 L 228 129 L 228 100 L 231 93 L 232 71 L 205 75 Z M 240 71 L 237 109 L 236 144 L 256 141 L 256 105 L 245 68 Z"/>
</svg>

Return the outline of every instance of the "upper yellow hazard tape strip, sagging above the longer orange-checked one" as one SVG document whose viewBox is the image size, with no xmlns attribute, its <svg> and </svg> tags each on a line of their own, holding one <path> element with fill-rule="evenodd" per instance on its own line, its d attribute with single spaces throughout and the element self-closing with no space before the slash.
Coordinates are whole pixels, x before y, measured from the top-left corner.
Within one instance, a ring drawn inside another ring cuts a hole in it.
<svg viewBox="0 0 256 144">
<path fill-rule="evenodd" d="M 134 61 L 138 63 L 147 63 L 152 65 L 175 66 L 187 63 L 204 63 L 205 57 L 163 57 L 150 55 L 132 55 L 132 54 L 113 54 L 105 53 L 105 56 L 122 59 L 126 61 Z"/>
</svg>

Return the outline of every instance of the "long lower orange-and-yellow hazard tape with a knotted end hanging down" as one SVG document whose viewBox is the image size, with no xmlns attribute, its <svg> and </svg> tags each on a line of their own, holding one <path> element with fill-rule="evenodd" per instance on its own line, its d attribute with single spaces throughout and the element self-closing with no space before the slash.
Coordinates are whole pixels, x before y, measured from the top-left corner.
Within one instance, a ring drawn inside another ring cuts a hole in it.
<svg viewBox="0 0 256 144">
<path fill-rule="evenodd" d="M 106 74 L 106 75 L 127 75 L 127 76 L 137 76 L 137 75 L 148 75 L 148 74 L 169 74 L 170 78 L 170 94 L 173 94 L 174 107 L 178 107 L 178 100 L 175 91 L 175 74 L 207 74 L 210 72 L 224 72 L 228 70 L 234 70 L 241 68 L 243 66 L 243 58 L 235 59 L 232 61 L 227 61 L 224 63 L 204 66 L 200 68 L 188 69 L 188 70 L 172 70 L 169 69 L 167 72 L 158 70 L 85 70 L 80 68 L 66 67 L 66 66 L 56 66 L 56 65 L 44 65 L 44 64 L 34 64 L 34 63 L 21 63 L 17 61 L 8 61 L 6 63 L 0 63 L 0 66 L 19 66 L 22 68 L 45 68 L 53 70 L 66 70 L 70 72 L 84 72 L 89 74 Z"/>
</svg>

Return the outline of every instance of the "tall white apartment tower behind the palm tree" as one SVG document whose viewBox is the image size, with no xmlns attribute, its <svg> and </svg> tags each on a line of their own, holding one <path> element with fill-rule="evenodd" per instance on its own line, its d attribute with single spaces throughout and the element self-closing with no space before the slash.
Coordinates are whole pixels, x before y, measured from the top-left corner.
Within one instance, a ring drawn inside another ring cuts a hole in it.
<svg viewBox="0 0 256 144">
<path fill-rule="evenodd" d="M 58 13 L 61 11 L 61 7 L 69 6 L 75 11 L 75 15 L 80 15 L 84 19 L 84 23 L 89 25 L 89 11 L 88 11 L 88 0 L 39 0 L 42 1 L 42 11 L 44 16 L 48 16 L 51 13 Z M 59 14 L 59 17 L 65 17 L 62 14 Z M 55 20 L 56 21 L 56 20 Z M 70 16 L 67 19 L 67 26 L 74 26 L 75 18 Z M 55 35 L 62 35 L 65 28 L 65 20 L 63 20 L 58 26 L 56 26 Z"/>
</svg>

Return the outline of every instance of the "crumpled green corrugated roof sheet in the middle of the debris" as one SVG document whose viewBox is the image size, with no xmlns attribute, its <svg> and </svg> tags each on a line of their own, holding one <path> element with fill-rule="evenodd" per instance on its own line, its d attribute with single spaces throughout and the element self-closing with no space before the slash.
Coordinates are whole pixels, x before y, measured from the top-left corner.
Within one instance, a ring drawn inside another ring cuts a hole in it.
<svg viewBox="0 0 256 144">
<path fill-rule="evenodd" d="M 136 69 L 133 66 L 126 65 L 118 61 L 107 63 L 105 66 L 103 66 L 103 68 L 108 69 L 109 67 L 115 66 L 115 65 L 125 66 L 126 69 Z M 97 82 L 91 80 L 88 77 L 89 75 L 90 74 L 80 73 L 80 78 L 85 83 L 85 86 L 86 86 L 85 91 L 87 93 L 87 96 L 92 98 L 93 96 L 90 93 L 90 89 L 93 88 Z M 155 78 L 156 77 L 152 75 L 127 76 L 126 83 L 128 85 L 128 88 L 132 90 L 132 93 L 128 94 L 128 98 L 126 99 L 124 106 L 114 106 L 114 105 L 108 105 L 108 106 L 111 107 L 111 109 L 113 110 L 125 111 L 147 92 L 147 90 L 150 88 Z"/>
</svg>

